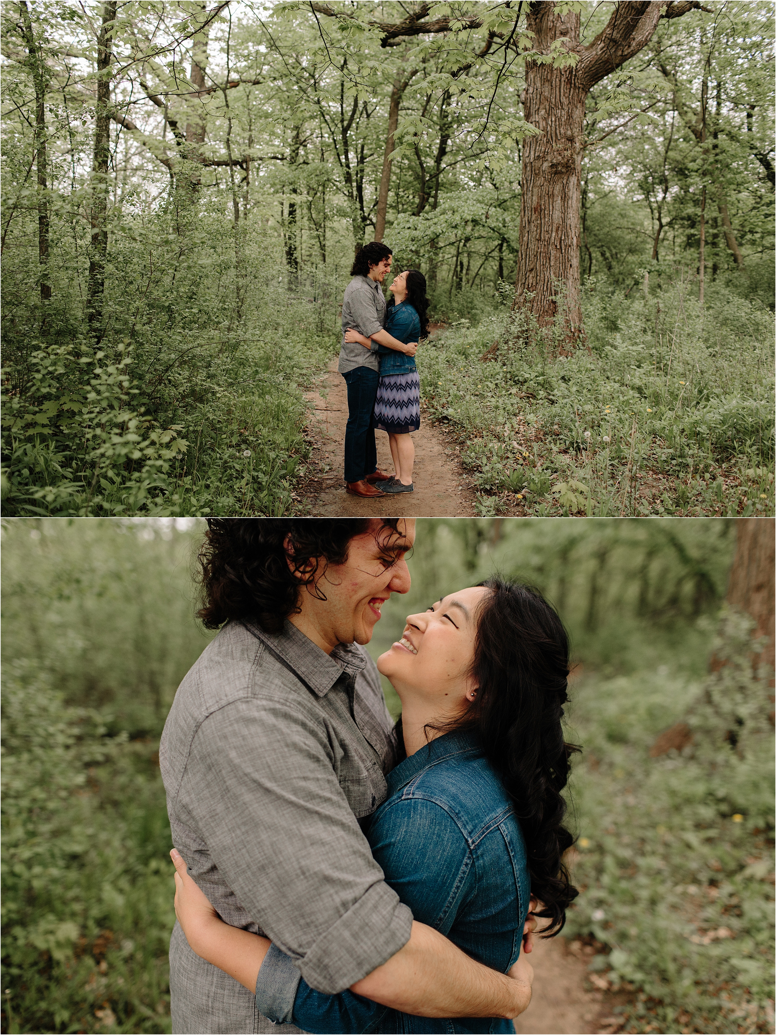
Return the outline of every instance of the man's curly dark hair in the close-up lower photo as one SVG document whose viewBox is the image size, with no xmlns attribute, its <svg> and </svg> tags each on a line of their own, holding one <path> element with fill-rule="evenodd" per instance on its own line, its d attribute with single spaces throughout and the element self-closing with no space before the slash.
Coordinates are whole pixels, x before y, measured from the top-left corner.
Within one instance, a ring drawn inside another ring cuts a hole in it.
<svg viewBox="0 0 776 1035">
<path fill-rule="evenodd" d="M 397 526 L 397 518 L 384 518 L 376 529 L 376 538 L 387 531 L 379 541 L 388 555 L 402 540 Z M 198 617 L 208 629 L 249 617 L 265 631 L 279 632 L 299 612 L 302 587 L 325 599 L 321 575 L 329 564 L 344 564 L 351 539 L 368 529 L 368 518 L 208 519 L 198 558 Z"/>
</svg>

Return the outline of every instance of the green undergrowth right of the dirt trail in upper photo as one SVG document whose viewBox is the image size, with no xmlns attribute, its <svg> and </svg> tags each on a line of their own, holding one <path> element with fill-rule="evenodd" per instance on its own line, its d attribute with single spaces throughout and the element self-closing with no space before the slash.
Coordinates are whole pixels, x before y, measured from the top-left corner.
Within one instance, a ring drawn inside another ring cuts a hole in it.
<svg viewBox="0 0 776 1035">
<path fill-rule="evenodd" d="M 505 313 L 419 354 L 478 512 L 772 515 L 773 315 L 722 286 L 703 312 L 682 283 L 627 300 L 591 282 L 584 299 L 589 349 L 571 355 Z"/>
</svg>

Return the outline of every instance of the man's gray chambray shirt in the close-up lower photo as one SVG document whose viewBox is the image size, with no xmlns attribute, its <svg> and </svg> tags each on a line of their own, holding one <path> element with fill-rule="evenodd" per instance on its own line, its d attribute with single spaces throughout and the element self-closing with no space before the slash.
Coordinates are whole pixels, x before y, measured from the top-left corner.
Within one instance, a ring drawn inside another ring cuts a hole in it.
<svg viewBox="0 0 776 1035">
<path fill-rule="evenodd" d="M 218 914 L 271 938 L 293 966 L 262 967 L 256 996 L 170 943 L 173 1031 L 296 1032 L 272 1024 L 300 974 L 337 993 L 410 938 L 358 819 L 387 796 L 397 741 L 377 667 L 326 654 L 290 622 L 273 635 L 228 623 L 181 683 L 159 765 L 173 844 Z M 279 955 L 279 953 L 277 953 Z"/>
</svg>

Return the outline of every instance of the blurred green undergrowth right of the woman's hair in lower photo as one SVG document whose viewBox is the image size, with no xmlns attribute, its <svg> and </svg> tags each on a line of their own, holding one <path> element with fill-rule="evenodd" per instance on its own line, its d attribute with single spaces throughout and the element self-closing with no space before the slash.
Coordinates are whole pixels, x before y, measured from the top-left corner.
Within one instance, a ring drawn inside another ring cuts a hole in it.
<svg viewBox="0 0 776 1035">
<path fill-rule="evenodd" d="M 593 982 L 625 1000 L 613 1030 L 773 1030 L 774 741 L 751 624 L 725 614 L 707 631 L 724 662 L 712 674 L 688 670 L 686 642 L 661 642 L 652 667 L 594 670 L 574 689 L 580 895 L 565 934 L 597 945 Z M 651 758 L 679 721 L 688 742 Z"/>
</svg>

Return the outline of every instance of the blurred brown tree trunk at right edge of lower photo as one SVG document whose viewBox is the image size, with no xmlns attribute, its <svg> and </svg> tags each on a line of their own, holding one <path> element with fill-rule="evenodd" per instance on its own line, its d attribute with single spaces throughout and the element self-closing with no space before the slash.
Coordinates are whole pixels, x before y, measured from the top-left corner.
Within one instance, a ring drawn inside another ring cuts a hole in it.
<svg viewBox="0 0 776 1035">
<path fill-rule="evenodd" d="M 736 522 L 736 557 L 727 585 L 727 602 L 751 615 L 754 634 L 767 637 L 755 664 L 774 664 L 774 566 L 776 526 L 772 518 L 739 518 Z"/>
</svg>

